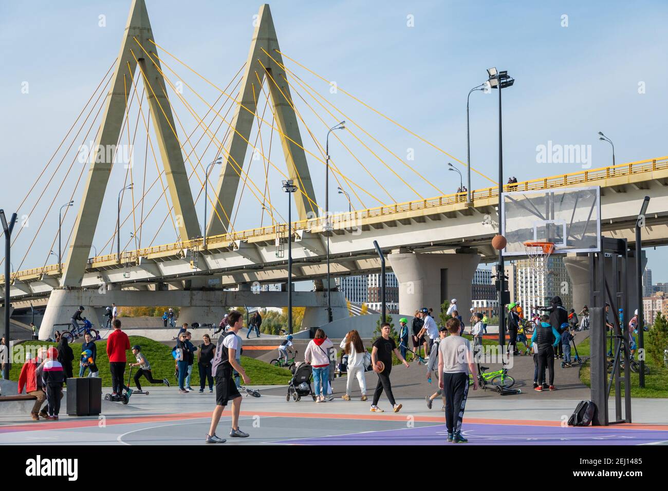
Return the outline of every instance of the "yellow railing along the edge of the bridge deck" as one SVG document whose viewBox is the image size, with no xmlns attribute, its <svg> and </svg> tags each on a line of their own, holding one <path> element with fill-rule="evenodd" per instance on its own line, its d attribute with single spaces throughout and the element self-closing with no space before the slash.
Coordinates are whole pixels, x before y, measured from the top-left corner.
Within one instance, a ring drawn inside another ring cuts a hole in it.
<svg viewBox="0 0 668 491">
<path fill-rule="evenodd" d="M 580 172 L 572 172 L 570 174 L 560 174 L 558 176 L 550 176 L 540 179 L 526 180 L 517 182 L 515 184 L 504 184 L 504 192 L 509 191 L 532 191 L 544 190 L 551 188 L 561 188 L 573 185 L 580 185 L 591 182 L 594 184 L 597 181 L 631 176 L 634 174 L 643 174 L 654 172 L 656 170 L 668 169 L 668 156 L 655 158 L 651 160 L 639 160 L 637 162 L 629 162 L 627 164 L 619 164 L 617 166 L 601 167 L 591 170 L 582 170 Z M 471 199 L 475 203 L 476 200 L 486 200 L 489 198 L 498 197 L 498 187 L 489 187 L 474 190 L 471 192 Z M 398 214 L 403 212 L 410 212 L 415 210 L 425 210 L 428 208 L 438 208 L 439 206 L 458 204 L 466 202 L 466 192 L 444 194 L 444 196 L 437 196 L 436 198 L 427 198 L 424 200 L 407 201 L 397 204 L 389 204 L 385 206 L 377 206 L 376 208 L 368 208 L 366 210 L 355 210 L 352 212 L 344 212 L 329 217 L 329 223 L 335 229 L 350 228 L 354 222 L 363 220 L 365 218 L 374 218 L 377 216 L 387 216 L 391 214 Z M 317 218 L 308 218 L 306 220 L 299 220 L 293 222 L 292 230 L 323 230 L 327 219 L 324 216 Z M 206 243 L 218 244 L 220 242 L 234 242 L 236 240 L 246 240 L 248 238 L 255 238 L 261 236 L 276 236 L 277 234 L 285 234 L 287 232 L 286 224 L 277 224 L 273 226 L 263 226 L 261 228 L 251 228 L 250 230 L 242 230 L 239 232 L 232 232 L 229 234 L 213 235 L 206 237 Z M 202 249 L 202 238 L 192 240 L 184 240 L 182 242 L 174 242 L 172 244 L 164 244 L 154 247 L 146 247 L 138 249 L 137 251 L 128 251 L 121 253 L 120 263 L 134 263 L 140 257 L 148 257 L 161 253 L 180 254 L 183 249 Z M 118 255 L 108 254 L 96 256 L 88 260 L 89 267 L 95 263 L 118 263 Z M 65 265 L 63 264 L 63 267 Z M 58 265 L 47 265 L 39 268 L 25 269 L 12 274 L 12 279 L 21 279 L 21 277 L 31 277 L 34 275 L 44 275 L 58 271 Z M 0 277 L 0 281 L 4 281 L 4 277 Z"/>
</svg>

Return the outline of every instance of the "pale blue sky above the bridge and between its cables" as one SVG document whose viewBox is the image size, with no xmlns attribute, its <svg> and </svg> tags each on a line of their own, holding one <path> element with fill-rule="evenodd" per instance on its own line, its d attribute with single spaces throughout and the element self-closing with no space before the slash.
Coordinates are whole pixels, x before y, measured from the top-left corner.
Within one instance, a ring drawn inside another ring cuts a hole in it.
<svg viewBox="0 0 668 491">
<path fill-rule="evenodd" d="M 665 147 L 668 5 L 665 2 L 274 1 L 270 5 L 282 51 L 462 161 L 466 160 L 466 94 L 486 79 L 486 68 L 507 69 L 516 82 L 504 92 L 505 179 L 516 176 L 523 180 L 581 169 L 580 164 L 536 164 L 536 146 L 547 144 L 548 140 L 558 144 L 591 144 L 592 166 L 610 164 L 611 148 L 599 142 L 599 131 L 615 142 L 617 163 L 668 154 Z M 147 0 L 147 6 L 156 41 L 208 79 L 225 86 L 247 57 L 253 15 L 260 3 Z M 5 210 L 12 210 L 21 202 L 114 61 L 129 7 L 129 1 L 0 4 L 3 65 L 0 107 L 4 116 L 0 120 L 0 152 L 12 183 L 3 193 Z M 98 25 L 100 15 L 105 16 L 106 27 Z M 413 16 L 414 27 L 407 26 L 409 15 Z M 568 27 L 562 27 L 562 15 L 568 15 Z M 164 59 L 208 102 L 218 97 L 202 79 L 169 57 Z M 397 156 L 405 159 L 409 149 L 413 149 L 415 160 L 408 163 L 428 182 L 369 142 L 387 165 L 419 194 L 437 194 L 430 183 L 446 192 L 458 187 L 458 178 L 453 178 L 456 174 L 445 170 L 450 158 L 341 92 L 330 94 L 327 84 L 294 63 L 287 61 L 287 66 Z M 178 78 L 174 75 L 173 80 Z M 25 81 L 29 92 L 22 94 L 21 84 Z M 639 94 L 641 83 L 644 94 Z M 305 92 L 301 94 L 317 107 Z M 472 165 L 494 178 L 498 158 L 495 96 L 496 92 L 471 96 Z M 197 114 L 202 115 L 208 109 L 192 91 L 184 90 L 184 97 Z M 170 94 L 170 98 L 186 130 L 192 130 L 196 119 L 175 96 Z M 323 142 L 327 128 L 323 129 L 323 123 L 298 96 L 293 94 L 293 98 L 307 126 Z M 321 110 L 319 114 L 330 124 L 336 122 Z M 134 116 L 136 113 L 131 114 L 132 126 Z M 180 130 L 179 133 L 182 134 Z M 356 134 L 369 141 L 361 132 Z M 93 136 L 94 132 L 88 140 Z M 383 202 L 417 198 L 409 186 L 395 178 L 350 134 L 341 132 L 339 136 L 371 174 L 379 178 L 389 196 L 371 176 L 359 170 L 357 162 L 339 142 L 331 140 L 331 154 L 344 174 Z M 251 141 L 254 137 L 255 130 Z M 307 149 L 316 152 L 303 128 L 302 137 Z M 222 138 L 222 130 L 218 138 Z M 266 146 L 268 129 L 263 130 L 262 138 Z M 205 145 L 206 142 L 197 148 L 200 156 Z M 142 155 L 137 168 L 144 166 L 144 147 L 145 138 L 138 137 L 136 151 Z M 285 168 L 276 141 L 272 152 L 272 160 Z M 58 154 L 57 160 L 63 153 Z M 65 168 L 74 155 L 70 153 L 65 158 Z M 212 160 L 212 149 L 202 156 L 202 162 L 210 162 L 209 156 Z M 263 187 L 261 164 L 253 165 L 248 173 Z M 152 160 L 150 166 L 155 167 Z M 55 174 L 54 182 L 61 185 L 60 194 L 55 196 L 55 208 L 47 214 L 21 269 L 40 266 L 47 260 L 57 231 L 58 204 L 69 199 L 80 170 L 81 165 L 75 164 L 67 178 L 64 170 Z M 153 171 L 147 180 L 155 178 L 157 174 Z M 275 196 L 280 192 L 281 177 L 272 172 L 269 187 Z M 311 162 L 311 175 L 318 201 L 323 202 L 323 165 Z M 108 242 L 114 230 L 115 196 L 124 178 L 120 168 L 112 172 L 94 240 L 98 249 Z M 141 179 L 140 175 L 134 177 L 135 182 Z M 191 184 L 196 192 L 198 182 L 193 180 Z M 472 188 L 488 184 L 473 174 Z M 77 190 L 81 188 L 83 184 Z M 55 189 L 50 187 L 44 193 L 42 202 L 29 217 L 29 226 L 19 236 L 12 261 L 16 267 L 35 237 Z M 38 185 L 28 203 L 42 193 Z M 159 193 L 155 196 L 159 197 Z M 75 206 L 80 197 L 80 192 L 75 191 Z M 379 204 L 368 196 L 361 197 L 367 207 Z M 330 200 L 333 210 L 347 210 L 347 202 L 335 194 L 335 185 L 330 190 Z M 124 214 L 130 212 L 128 205 L 129 200 L 124 201 Z M 27 212 L 26 206 L 20 212 Z M 200 200 L 200 221 L 202 206 Z M 275 206 L 285 215 L 283 205 Z M 356 200 L 353 206 L 361 208 Z M 248 191 L 238 209 L 236 230 L 260 224 L 259 204 Z M 160 226 L 166 214 L 164 200 L 156 206 L 155 213 L 155 217 L 147 220 L 146 236 L 152 238 L 156 234 L 154 244 L 172 242 L 173 228 L 168 224 Z M 266 224 L 266 216 L 263 220 Z M 73 213 L 63 221 L 63 230 L 69 233 L 72 224 Z M 132 225 L 128 225 L 122 231 L 124 242 L 131 230 Z M 148 246 L 150 238 L 142 239 L 142 247 Z M 109 250 L 110 245 L 105 251 Z M 659 262 L 661 252 L 661 249 L 648 252 L 655 282 L 668 281 L 668 265 Z M 52 262 L 53 257 L 49 260 Z"/>
</svg>

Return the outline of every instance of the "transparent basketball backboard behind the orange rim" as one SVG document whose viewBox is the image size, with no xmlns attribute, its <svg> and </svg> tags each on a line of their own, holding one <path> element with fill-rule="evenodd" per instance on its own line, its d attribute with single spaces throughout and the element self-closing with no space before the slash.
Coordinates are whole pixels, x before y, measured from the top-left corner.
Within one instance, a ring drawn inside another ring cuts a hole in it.
<svg viewBox="0 0 668 491">
<path fill-rule="evenodd" d="M 557 188 L 502 194 L 506 256 L 524 256 L 527 240 L 554 243 L 553 254 L 601 251 L 601 188 Z"/>
</svg>

